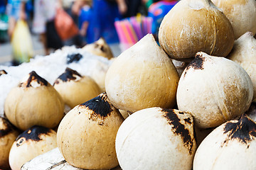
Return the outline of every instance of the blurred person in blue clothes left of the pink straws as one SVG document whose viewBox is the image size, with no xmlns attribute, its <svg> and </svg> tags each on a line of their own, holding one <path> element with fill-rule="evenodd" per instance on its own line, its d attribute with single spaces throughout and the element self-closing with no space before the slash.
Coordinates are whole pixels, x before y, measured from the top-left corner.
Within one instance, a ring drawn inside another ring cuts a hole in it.
<svg viewBox="0 0 256 170">
<path fill-rule="evenodd" d="M 86 43 L 92 43 L 105 38 L 108 44 L 119 42 L 114 21 L 121 19 L 127 12 L 124 0 L 93 0 L 92 4 L 85 4 L 80 10 L 80 33 Z"/>
</svg>

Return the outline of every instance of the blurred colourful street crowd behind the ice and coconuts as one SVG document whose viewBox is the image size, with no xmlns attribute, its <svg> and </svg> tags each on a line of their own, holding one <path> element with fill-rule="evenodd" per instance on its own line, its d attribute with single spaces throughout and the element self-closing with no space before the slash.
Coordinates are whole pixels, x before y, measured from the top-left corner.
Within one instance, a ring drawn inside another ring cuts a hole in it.
<svg viewBox="0 0 256 170">
<path fill-rule="evenodd" d="M 175 0 L 0 0 L 0 64 L 18 65 L 65 45 L 105 38 L 115 56 L 157 35 Z"/>
</svg>

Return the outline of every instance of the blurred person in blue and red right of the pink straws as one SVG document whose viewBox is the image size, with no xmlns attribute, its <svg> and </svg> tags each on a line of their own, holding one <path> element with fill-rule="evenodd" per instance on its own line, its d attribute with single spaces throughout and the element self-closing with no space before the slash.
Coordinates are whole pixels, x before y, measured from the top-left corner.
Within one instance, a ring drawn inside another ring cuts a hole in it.
<svg viewBox="0 0 256 170">
<path fill-rule="evenodd" d="M 178 3 L 178 0 L 163 0 L 158 1 L 149 6 L 148 16 L 153 19 L 152 23 L 152 34 L 158 41 L 159 27 L 164 16 Z"/>
</svg>

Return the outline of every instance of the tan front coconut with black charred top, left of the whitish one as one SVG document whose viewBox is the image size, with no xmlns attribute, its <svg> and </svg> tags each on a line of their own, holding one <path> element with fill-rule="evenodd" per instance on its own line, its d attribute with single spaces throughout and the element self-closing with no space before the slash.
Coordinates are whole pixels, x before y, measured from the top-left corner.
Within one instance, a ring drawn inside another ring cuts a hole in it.
<svg viewBox="0 0 256 170">
<path fill-rule="evenodd" d="M 124 118 L 103 93 L 75 106 L 61 120 L 57 145 L 65 160 L 82 169 L 112 169 L 118 165 L 114 149 Z"/>
</svg>

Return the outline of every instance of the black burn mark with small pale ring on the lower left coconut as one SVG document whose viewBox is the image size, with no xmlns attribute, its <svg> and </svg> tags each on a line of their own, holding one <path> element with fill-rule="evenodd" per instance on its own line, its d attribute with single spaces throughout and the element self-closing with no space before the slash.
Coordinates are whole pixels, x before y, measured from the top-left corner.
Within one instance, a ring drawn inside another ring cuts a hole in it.
<svg viewBox="0 0 256 170">
<path fill-rule="evenodd" d="M 38 125 L 34 125 L 31 128 L 29 128 L 28 130 L 24 131 L 23 133 L 21 133 L 21 135 L 18 135 L 18 137 L 16 138 L 16 141 L 20 140 L 19 143 L 23 142 L 24 140 L 33 140 L 33 141 L 40 141 L 42 140 L 40 138 L 41 135 L 48 135 L 48 133 L 50 133 L 50 129 L 43 127 L 43 126 L 38 126 Z M 18 143 L 17 143 L 18 146 Z"/>
</svg>

